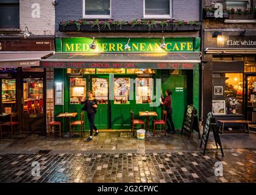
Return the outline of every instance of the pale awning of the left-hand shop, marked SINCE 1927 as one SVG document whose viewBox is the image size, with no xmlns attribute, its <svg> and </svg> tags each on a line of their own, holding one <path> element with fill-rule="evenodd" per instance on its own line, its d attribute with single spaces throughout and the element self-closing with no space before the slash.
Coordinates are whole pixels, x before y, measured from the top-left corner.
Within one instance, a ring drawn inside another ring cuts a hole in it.
<svg viewBox="0 0 256 195">
<path fill-rule="evenodd" d="M 53 52 L 0 52 L 1 68 L 18 68 L 40 66 L 40 60 L 52 55 Z"/>
</svg>

